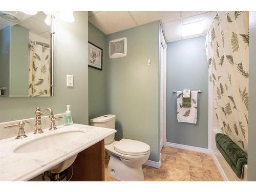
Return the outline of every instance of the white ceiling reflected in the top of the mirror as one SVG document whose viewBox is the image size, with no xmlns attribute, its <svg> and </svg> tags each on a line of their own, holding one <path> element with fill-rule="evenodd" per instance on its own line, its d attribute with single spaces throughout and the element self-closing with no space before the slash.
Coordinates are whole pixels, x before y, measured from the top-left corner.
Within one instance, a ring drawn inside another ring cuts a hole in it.
<svg viewBox="0 0 256 192">
<path fill-rule="evenodd" d="M 19 21 L 10 22 L 5 18 L 0 16 L 0 30 L 7 26 L 20 25 L 30 30 L 30 32 L 39 35 L 41 37 L 49 38 L 50 37 L 50 26 L 46 25 L 45 19 L 46 14 L 42 11 L 39 11 L 35 15 L 27 15 L 21 11 L 5 11 L 14 14 Z"/>
</svg>

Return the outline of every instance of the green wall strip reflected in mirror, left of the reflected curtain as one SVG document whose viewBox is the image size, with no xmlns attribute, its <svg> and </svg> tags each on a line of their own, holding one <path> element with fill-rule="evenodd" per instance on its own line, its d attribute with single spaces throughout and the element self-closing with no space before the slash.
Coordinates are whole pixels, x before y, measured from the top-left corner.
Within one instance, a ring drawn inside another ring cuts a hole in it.
<svg viewBox="0 0 256 192">
<path fill-rule="evenodd" d="M 27 97 L 29 87 L 29 30 L 15 25 L 10 38 L 9 97 Z"/>
</svg>

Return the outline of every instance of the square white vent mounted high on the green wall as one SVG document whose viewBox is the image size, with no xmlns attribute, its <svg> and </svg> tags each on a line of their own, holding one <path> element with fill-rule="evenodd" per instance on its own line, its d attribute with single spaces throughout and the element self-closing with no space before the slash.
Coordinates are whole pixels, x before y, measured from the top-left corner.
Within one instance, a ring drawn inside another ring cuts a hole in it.
<svg viewBox="0 0 256 192">
<path fill-rule="evenodd" d="M 110 41 L 110 58 L 124 57 L 127 54 L 126 37 L 114 39 Z"/>
</svg>

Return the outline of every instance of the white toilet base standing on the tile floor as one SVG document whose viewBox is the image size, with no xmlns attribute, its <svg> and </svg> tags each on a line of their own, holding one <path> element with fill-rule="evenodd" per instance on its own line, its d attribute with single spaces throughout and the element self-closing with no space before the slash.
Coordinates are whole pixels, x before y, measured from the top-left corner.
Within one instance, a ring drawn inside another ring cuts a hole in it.
<svg viewBox="0 0 256 192">
<path fill-rule="evenodd" d="M 111 154 L 106 174 L 121 181 L 144 181 L 142 166 L 127 166 L 114 154 Z"/>
</svg>

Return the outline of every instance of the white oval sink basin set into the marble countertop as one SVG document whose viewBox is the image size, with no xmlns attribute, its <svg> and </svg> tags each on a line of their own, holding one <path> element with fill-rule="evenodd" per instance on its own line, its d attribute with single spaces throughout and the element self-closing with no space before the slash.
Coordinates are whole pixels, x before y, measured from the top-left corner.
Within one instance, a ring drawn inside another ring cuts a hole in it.
<svg viewBox="0 0 256 192">
<path fill-rule="evenodd" d="M 84 132 L 82 131 L 59 132 L 50 135 L 45 135 L 18 145 L 13 152 L 32 153 L 42 150 L 49 150 L 51 148 L 58 148 L 58 146 L 67 145 L 73 142 L 74 138 L 78 139 L 83 135 Z"/>
</svg>

